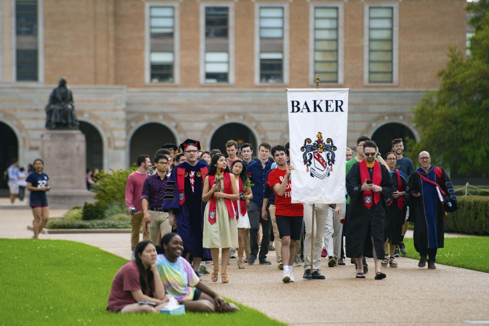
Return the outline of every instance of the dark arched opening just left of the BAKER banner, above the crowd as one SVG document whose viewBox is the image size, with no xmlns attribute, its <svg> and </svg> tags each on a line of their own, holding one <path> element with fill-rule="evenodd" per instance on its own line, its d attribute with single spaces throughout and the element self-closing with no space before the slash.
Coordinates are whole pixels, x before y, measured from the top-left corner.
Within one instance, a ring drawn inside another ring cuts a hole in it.
<svg viewBox="0 0 489 326">
<path fill-rule="evenodd" d="M 238 145 L 250 143 L 253 146 L 254 155 L 258 152 L 255 134 L 250 128 L 240 123 L 227 123 L 219 127 L 212 135 L 209 149 L 220 149 L 222 153 L 226 154 L 225 145 L 231 139 L 235 140 Z"/>
</svg>

